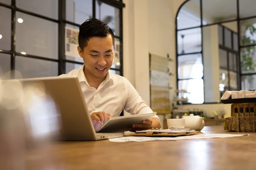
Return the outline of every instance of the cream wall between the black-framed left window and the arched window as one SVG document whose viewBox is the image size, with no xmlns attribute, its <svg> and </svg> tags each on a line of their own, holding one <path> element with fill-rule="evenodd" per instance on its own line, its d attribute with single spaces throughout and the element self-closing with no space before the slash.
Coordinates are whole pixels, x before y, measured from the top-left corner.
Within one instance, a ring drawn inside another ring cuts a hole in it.
<svg viewBox="0 0 256 170">
<path fill-rule="evenodd" d="M 175 57 L 175 15 L 184 0 L 123 0 L 124 77 L 150 103 L 148 53 Z M 175 61 L 170 71 L 176 74 Z M 176 77 L 170 79 L 176 88 Z M 158 115 L 163 125 L 163 116 Z"/>
</svg>

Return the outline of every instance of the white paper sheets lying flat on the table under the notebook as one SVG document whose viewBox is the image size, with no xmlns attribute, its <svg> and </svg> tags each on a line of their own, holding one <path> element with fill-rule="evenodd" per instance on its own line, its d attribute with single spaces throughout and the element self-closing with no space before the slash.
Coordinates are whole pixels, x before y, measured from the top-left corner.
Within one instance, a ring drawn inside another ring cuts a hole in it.
<svg viewBox="0 0 256 170">
<path fill-rule="evenodd" d="M 249 136 L 249 134 L 233 135 L 233 134 L 195 134 L 191 136 L 176 136 L 176 137 L 145 137 L 145 136 L 124 136 L 120 138 L 109 139 L 110 142 L 145 142 L 145 141 L 175 141 L 184 139 L 210 139 L 210 138 L 228 138 L 236 136 Z"/>
</svg>

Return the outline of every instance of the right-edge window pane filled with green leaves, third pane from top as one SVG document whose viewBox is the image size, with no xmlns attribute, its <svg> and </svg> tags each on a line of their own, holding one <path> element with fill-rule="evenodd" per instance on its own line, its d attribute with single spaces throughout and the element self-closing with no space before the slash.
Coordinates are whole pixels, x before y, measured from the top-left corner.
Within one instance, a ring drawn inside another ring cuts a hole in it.
<svg viewBox="0 0 256 170">
<path fill-rule="evenodd" d="M 256 66 L 256 46 L 250 46 L 246 48 L 241 48 L 241 72 L 242 74 L 246 73 L 255 73 Z"/>
</svg>

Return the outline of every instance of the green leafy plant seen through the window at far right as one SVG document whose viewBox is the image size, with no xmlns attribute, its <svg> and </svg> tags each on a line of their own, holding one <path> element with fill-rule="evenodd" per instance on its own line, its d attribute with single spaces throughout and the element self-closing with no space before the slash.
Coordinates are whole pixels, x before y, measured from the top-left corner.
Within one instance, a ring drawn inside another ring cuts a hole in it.
<svg viewBox="0 0 256 170">
<path fill-rule="evenodd" d="M 245 32 L 249 30 L 250 36 L 247 36 Z M 251 24 L 246 26 L 244 35 L 241 37 L 241 44 L 242 45 L 251 45 L 256 44 L 256 40 L 253 40 L 251 37 L 256 33 L 256 28 Z M 241 71 L 242 72 L 254 72 L 256 63 L 253 61 L 253 56 L 256 51 L 255 46 L 241 48 Z M 250 87 L 253 87 L 254 77 L 252 75 L 246 76 L 243 78 L 243 82 L 245 79 L 250 84 Z M 244 86 L 245 88 L 245 86 Z"/>
</svg>

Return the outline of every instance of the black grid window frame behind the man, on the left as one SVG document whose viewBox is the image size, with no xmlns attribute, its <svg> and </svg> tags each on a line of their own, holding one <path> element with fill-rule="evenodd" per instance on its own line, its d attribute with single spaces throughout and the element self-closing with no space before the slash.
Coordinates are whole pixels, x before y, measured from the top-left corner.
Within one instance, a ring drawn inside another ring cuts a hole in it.
<svg viewBox="0 0 256 170">
<path fill-rule="evenodd" d="M 119 68 L 110 68 L 111 70 L 119 71 L 120 75 L 123 76 L 123 11 L 122 9 L 125 7 L 125 4 L 122 3 L 122 0 L 99 0 L 102 3 L 106 3 L 110 6 L 113 6 L 115 8 L 118 8 L 120 10 L 119 12 L 119 36 L 115 36 L 115 38 L 118 38 L 120 41 L 120 67 Z M 93 16 L 92 18 L 96 18 L 96 0 L 92 0 L 93 2 Z M 6 3 L 0 2 L 0 6 L 6 7 L 11 9 L 12 15 L 11 15 L 11 50 L 3 50 L 0 48 L 0 53 L 3 54 L 10 54 L 11 55 L 11 65 L 10 65 L 10 70 L 12 71 L 11 74 L 11 79 L 15 78 L 14 75 L 14 70 L 15 70 L 15 57 L 20 56 L 20 57 L 28 57 L 28 58 L 34 58 L 34 59 L 42 59 L 42 60 L 47 60 L 47 61 L 52 61 L 52 62 L 58 62 L 58 75 L 65 74 L 66 73 L 66 63 L 73 63 L 73 64 L 81 64 L 83 65 L 83 62 L 77 62 L 77 61 L 72 61 L 66 59 L 65 55 L 65 24 L 70 24 L 72 26 L 77 26 L 79 27 L 80 25 L 77 23 L 73 23 L 70 21 L 66 20 L 66 0 L 58 0 L 58 20 L 46 17 L 41 14 L 37 14 L 31 11 L 27 11 L 21 8 L 18 8 L 16 6 L 16 0 L 12 0 L 11 5 L 8 5 Z M 15 48 L 15 23 L 16 23 L 16 11 L 24 13 L 24 14 L 29 14 L 34 17 L 38 17 L 44 20 L 48 20 L 54 23 L 58 23 L 58 59 L 51 59 L 51 58 L 46 58 L 46 57 L 41 57 L 41 56 L 35 56 L 31 54 L 21 54 L 16 52 Z"/>
</svg>

